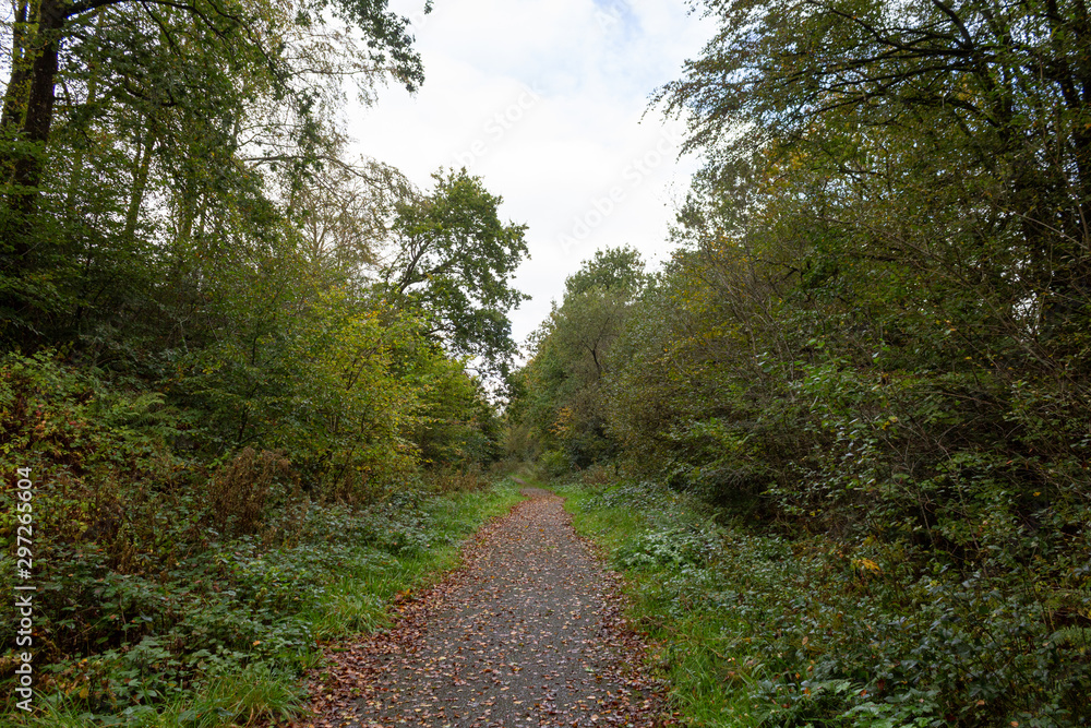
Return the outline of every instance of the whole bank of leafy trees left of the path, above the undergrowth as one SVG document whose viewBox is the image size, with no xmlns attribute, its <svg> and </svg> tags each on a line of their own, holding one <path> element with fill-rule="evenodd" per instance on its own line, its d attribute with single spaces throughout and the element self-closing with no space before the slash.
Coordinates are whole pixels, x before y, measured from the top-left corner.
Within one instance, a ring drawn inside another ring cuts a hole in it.
<svg viewBox="0 0 1091 728">
<path fill-rule="evenodd" d="M 451 385 L 465 362 L 435 345 L 432 312 L 372 295 L 377 241 L 422 208 L 398 212 L 409 186 L 395 170 L 343 160 L 345 81 L 369 100 L 388 74 L 422 80 L 405 19 L 385 0 L 21 12 L 0 120 L 4 351 L 60 347 L 149 416 L 171 413 L 164 443 L 217 463 L 279 451 L 327 498 L 382 498 L 413 478 L 429 409 L 466 423 L 429 453 L 442 466 L 491 457 L 480 423 L 493 408 Z M 51 70 L 34 60 L 51 53 Z M 520 298 L 507 281 L 525 252 L 499 203 L 452 175 L 425 206 L 433 228 L 463 230 L 424 236 L 451 254 L 491 241 L 459 272 L 495 332 Z M 449 273 L 442 286 L 461 285 Z M 123 417 L 96 402 L 88 417 Z"/>
</svg>

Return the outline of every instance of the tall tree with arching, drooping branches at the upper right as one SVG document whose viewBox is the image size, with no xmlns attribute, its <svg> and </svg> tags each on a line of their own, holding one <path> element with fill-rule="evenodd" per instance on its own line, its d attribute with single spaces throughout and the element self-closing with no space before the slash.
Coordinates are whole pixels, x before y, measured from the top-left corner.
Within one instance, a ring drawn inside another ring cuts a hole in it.
<svg viewBox="0 0 1091 728">
<path fill-rule="evenodd" d="M 946 190 L 945 203 L 1018 249 L 1005 275 L 1023 282 L 1041 333 L 1065 349 L 1091 314 L 1082 0 L 704 5 L 720 31 L 659 98 L 693 112 L 688 145 L 710 152 L 706 178 L 747 179 L 760 148 L 759 165 L 820 160 L 836 180 L 829 192 L 851 194 L 867 180 L 876 200 L 894 189 Z"/>
</svg>

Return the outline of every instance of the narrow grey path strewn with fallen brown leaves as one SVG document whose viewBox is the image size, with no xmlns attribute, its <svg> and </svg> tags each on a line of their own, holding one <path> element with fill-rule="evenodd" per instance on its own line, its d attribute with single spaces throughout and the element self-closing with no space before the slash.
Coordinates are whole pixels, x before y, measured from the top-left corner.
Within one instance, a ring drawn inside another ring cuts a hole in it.
<svg viewBox="0 0 1091 728">
<path fill-rule="evenodd" d="M 467 547 L 464 569 L 399 605 L 394 630 L 332 655 L 310 725 L 658 725 L 614 578 L 560 498 L 524 493 Z"/>
</svg>

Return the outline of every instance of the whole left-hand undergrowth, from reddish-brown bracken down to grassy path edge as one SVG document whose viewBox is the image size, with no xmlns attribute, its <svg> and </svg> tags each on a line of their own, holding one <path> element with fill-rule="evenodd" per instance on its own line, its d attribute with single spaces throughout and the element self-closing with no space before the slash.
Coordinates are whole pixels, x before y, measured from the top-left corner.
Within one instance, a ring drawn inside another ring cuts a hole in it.
<svg viewBox="0 0 1091 728">
<path fill-rule="evenodd" d="M 187 458 L 193 423 L 155 393 L 0 361 L 0 578 L 16 575 L 16 473 L 31 469 L 33 644 L 0 607 L 0 725 L 213 728 L 301 714 L 320 645 L 387 623 L 519 500 L 508 481 L 423 481 L 372 503 L 301 489 L 281 453 Z M 9 467 L 9 463 L 11 466 Z M 33 707 L 17 709 L 17 655 Z"/>
</svg>

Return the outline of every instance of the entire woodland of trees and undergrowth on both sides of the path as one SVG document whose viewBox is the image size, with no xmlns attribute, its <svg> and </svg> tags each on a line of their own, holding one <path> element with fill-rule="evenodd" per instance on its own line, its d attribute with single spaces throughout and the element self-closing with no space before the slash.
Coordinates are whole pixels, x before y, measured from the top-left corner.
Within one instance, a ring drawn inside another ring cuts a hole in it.
<svg viewBox="0 0 1091 728">
<path fill-rule="evenodd" d="M 386 0 L 12 3 L 0 725 L 297 718 L 512 472 L 681 725 L 1091 721 L 1084 1 L 693 11 L 669 261 L 598 250 L 520 355 L 502 196 L 350 152 L 424 83 Z"/>
</svg>

